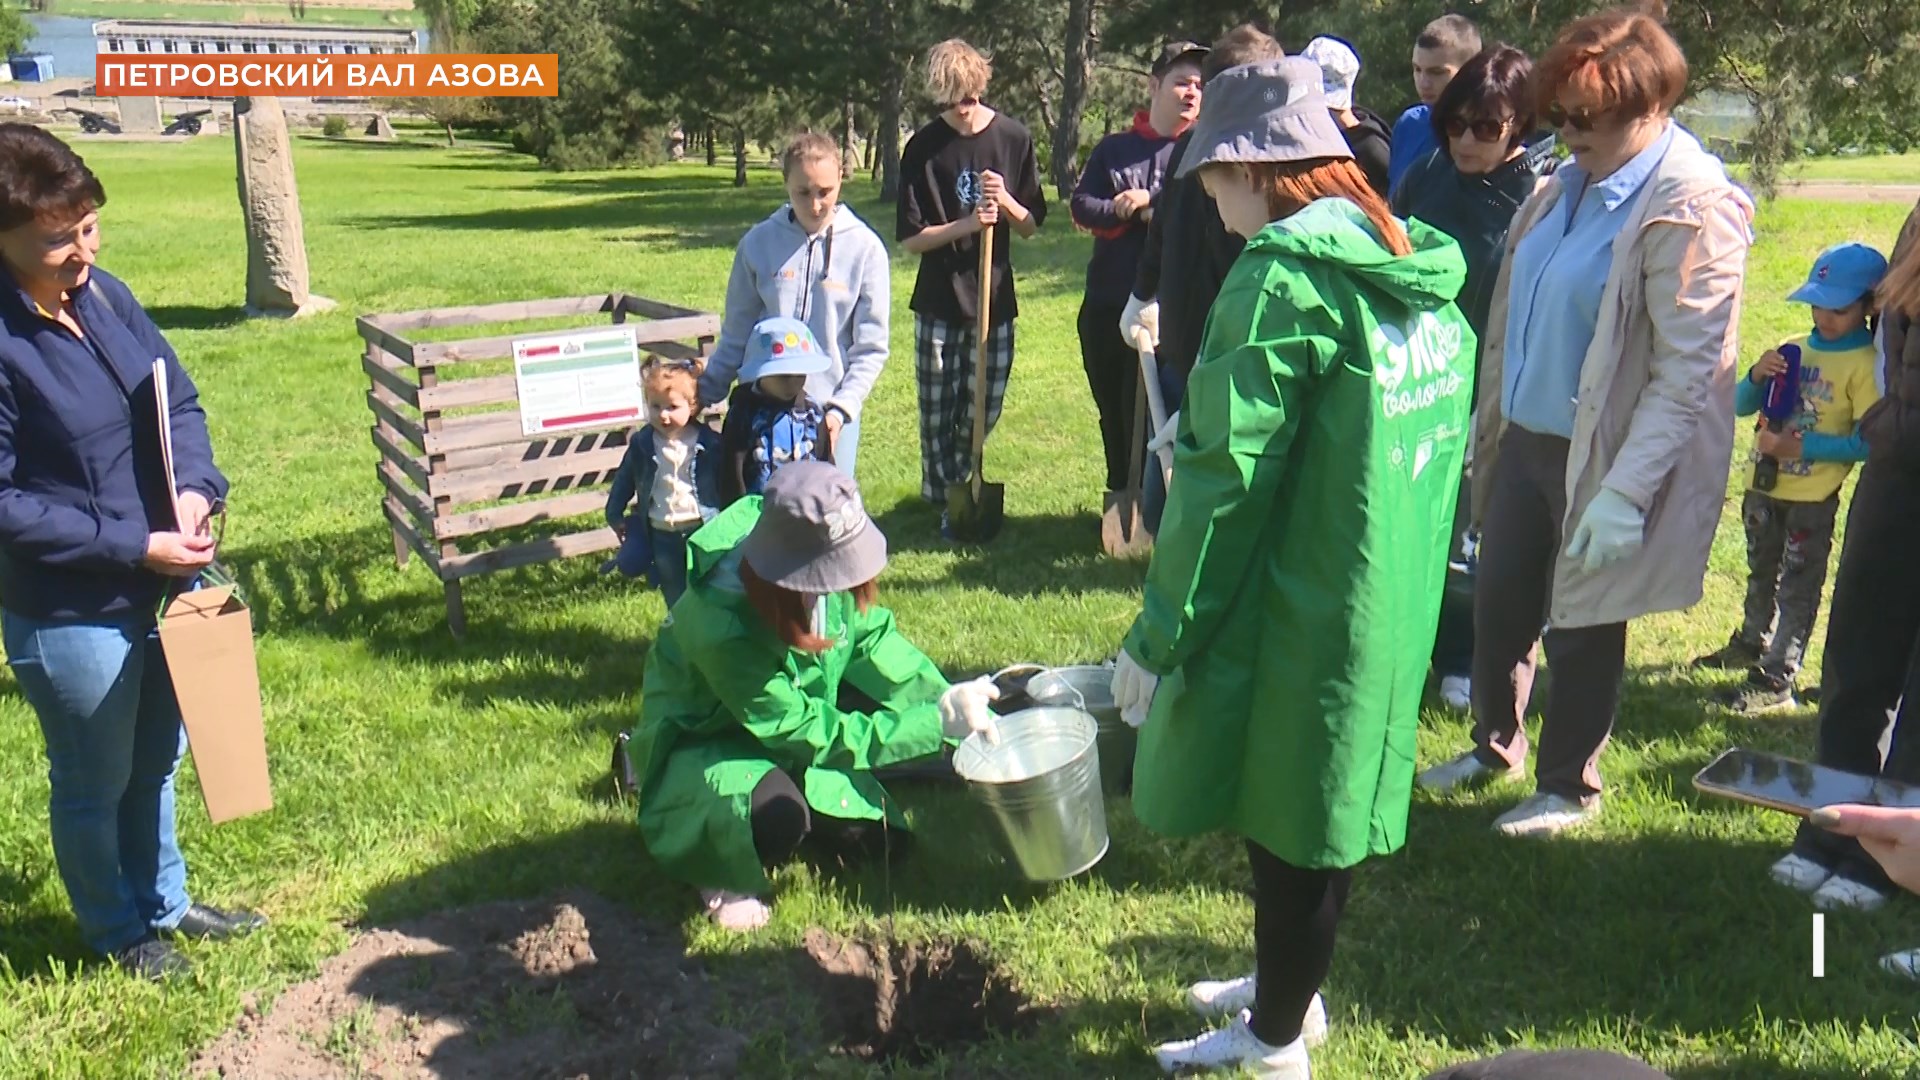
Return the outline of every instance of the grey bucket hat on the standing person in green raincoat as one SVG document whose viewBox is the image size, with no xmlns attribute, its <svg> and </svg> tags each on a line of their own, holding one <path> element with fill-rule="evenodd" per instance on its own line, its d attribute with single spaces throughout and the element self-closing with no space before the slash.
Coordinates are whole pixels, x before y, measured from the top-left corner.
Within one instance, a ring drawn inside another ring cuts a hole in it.
<svg viewBox="0 0 1920 1080">
<path fill-rule="evenodd" d="M 1327 111 L 1319 63 L 1288 56 L 1229 67 L 1206 85 L 1179 175 L 1213 161 L 1321 158 L 1352 160 L 1354 150 Z"/>
</svg>

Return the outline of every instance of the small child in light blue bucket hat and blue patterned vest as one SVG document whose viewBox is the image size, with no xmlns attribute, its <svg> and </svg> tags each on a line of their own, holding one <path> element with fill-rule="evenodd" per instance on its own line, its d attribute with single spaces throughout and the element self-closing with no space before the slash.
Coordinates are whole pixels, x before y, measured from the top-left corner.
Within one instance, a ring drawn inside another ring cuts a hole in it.
<svg viewBox="0 0 1920 1080">
<path fill-rule="evenodd" d="M 826 411 L 808 400 L 806 377 L 833 365 L 812 329 L 799 319 L 760 319 L 747 334 L 739 386 L 720 425 L 720 503 L 766 490 L 776 469 L 791 461 L 831 461 L 820 430 Z"/>
</svg>

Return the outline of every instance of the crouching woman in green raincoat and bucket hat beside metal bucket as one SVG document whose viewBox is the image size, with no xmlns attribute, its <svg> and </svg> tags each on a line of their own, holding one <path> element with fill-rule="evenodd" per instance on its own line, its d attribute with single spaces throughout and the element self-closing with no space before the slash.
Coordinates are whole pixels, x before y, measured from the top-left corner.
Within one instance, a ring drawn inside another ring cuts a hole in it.
<svg viewBox="0 0 1920 1080">
<path fill-rule="evenodd" d="M 639 830 L 718 924 L 755 930 L 770 867 L 814 830 L 904 828 L 872 769 L 991 732 L 996 692 L 948 686 L 876 605 L 887 538 L 833 465 L 785 465 L 687 550 L 628 744 Z"/>
</svg>

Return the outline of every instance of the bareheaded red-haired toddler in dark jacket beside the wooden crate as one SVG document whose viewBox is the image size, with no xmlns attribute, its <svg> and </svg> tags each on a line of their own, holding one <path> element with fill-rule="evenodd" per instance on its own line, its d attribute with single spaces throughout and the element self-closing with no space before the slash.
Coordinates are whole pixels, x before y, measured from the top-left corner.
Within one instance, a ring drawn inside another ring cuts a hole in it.
<svg viewBox="0 0 1920 1080">
<path fill-rule="evenodd" d="M 693 421 L 699 377 L 695 359 L 647 361 L 647 427 L 626 440 L 607 492 L 607 525 L 620 536 L 611 569 L 645 575 L 666 607 L 687 590 L 687 536 L 720 513 L 720 436 Z M 639 509 L 628 513 L 636 498 Z"/>
</svg>

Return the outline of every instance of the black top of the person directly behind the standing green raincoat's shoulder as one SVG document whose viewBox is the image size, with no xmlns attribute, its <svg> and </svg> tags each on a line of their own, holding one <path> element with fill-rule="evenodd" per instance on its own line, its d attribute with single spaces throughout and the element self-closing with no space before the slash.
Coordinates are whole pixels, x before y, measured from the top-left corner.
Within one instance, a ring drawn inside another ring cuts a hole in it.
<svg viewBox="0 0 1920 1080">
<path fill-rule="evenodd" d="M 1200 332 L 1206 313 L 1219 296 L 1227 269 L 1246 250 L 1246 238 L 1235 236 L 1219 221 L 1219 208 L 1200 186 L 1200 173 L 1175 177 L 1192 133 L 1173 144 L 1167 160 L 1167 181 L 1154 206 L 1154 223 L 1146 231 L 1146 252 L 1133 294 L 1140 300 L 1160 300 L 1160 365 L 1173 371 L 1181 382 L 1200 357 Z"/>
</svg>

